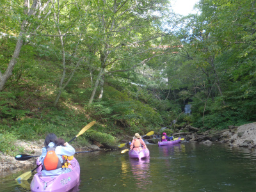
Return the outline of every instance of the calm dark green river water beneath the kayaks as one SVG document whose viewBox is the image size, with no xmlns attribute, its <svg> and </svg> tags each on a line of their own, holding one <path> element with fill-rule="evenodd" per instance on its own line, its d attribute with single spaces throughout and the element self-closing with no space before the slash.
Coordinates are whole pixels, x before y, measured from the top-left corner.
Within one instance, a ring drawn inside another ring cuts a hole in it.
<svg viewBox="0 0 256 192">
<path fill-rule="evenodd" d="M 256 191 L 254 149 L 198 143 L 147 147 L 150 158 L 141 161 L 129 159 L 128 153 L 121 154 L 120 151 L 76 155 L 81 166 L 81 177 L 72 192 Z M 1 178 L 0 191 L 30 191 L 32 177 L 22 185 L 15 181 L 24 172 Z"/>
</svg>

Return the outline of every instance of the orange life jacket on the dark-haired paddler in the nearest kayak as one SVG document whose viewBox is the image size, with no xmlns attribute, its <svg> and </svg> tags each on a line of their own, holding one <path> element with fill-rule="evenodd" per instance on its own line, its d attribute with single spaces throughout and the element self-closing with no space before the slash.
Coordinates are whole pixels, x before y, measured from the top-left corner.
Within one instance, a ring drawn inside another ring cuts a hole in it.
<svg viewBox="0 0 256 192">
<path fill-rule="evenodd" d="M 43 168 L 44 170 L 51 171 L 61 168 L 63 164 L 65 164 L 65 158 L 62 156 L 63 163 L 61 163 L 59 157 L 55 153 L 56 145 L 54 147 L 45 147 L 47 150 L 47 154 L 44 158 Z"/>
</svg>

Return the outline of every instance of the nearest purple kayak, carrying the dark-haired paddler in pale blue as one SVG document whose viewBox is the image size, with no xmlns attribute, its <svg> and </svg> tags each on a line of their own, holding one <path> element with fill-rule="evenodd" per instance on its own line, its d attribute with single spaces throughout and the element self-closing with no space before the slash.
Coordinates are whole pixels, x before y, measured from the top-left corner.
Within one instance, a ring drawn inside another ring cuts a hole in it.
<svg viewBox="0 0 256 192">
<path fill-rule="evenodd" d="M 79 182 L 80 166 L 75 157 L 68 162 L 71 164 L 72 172 L 53 176 L 42 176 L 41 172 L 36 173 L 30 184 L 31 191 L 65 192 L 74 188 Z"/>
</svg>

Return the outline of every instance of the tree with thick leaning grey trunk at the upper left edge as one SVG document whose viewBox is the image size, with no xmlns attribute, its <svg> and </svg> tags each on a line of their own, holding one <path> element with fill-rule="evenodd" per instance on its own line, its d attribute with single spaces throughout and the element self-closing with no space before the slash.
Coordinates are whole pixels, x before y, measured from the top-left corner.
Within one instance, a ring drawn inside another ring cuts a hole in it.
<svg viewBox="0 0 256 192">
<path fill-rule="evenodd" d="M 33 0 L 33 3 L 29 4 L 28 0 L 24 0 L 23 12 L 20 12 L 20 2 L 13 3 L 12 1 L 4 1 L 4 4 L 2 4 L 1 10 L 10 10 L 10 12 L 6 12 L 4 20 L 12 20 L 11 18 L 15 18 L 20 25 L 14 24 L 14 26 L 7 26 L 6 22 L 3 24 L 6 31 L 1 31 L 2 33 L 8 33 L 10 32 L 10 28 L 15 28 L 13 32 L 15 33 L 14 35 L 17 36 L 17 44 L 5 72 L 0 71 L 0 91 L 4 90 L 6 81 L 12 76 L 12 71 L 18 61 L 21 47 L 29 43 L 31 33 L 35 33 L 35 31 L 40 28 L 41 22 L 51 13 L 49 2 L 50 1 L 46 1 L 42 3 L 40 0 Z M 19 17 L 19 14 L 22 17 Z M 11 22 L 10 24 L 13 23 Z"/>
</svg>

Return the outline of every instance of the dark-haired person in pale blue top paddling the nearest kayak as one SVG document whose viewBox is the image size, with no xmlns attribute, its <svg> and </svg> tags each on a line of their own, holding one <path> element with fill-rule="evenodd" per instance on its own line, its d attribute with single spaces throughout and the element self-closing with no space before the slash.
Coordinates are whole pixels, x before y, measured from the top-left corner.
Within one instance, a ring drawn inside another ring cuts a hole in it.
<svg viewBox="0 0 256 192">
<path fill-rule="evenodd" d="M 65 163 L 63 156 L 74 156 L 75 149 L 67 142 L 63 146 L 56 145 L 58 139 L 54 133 L 47 134 L 42 154 L 38 158 L 43 165 L 42 175 L 60 175 L 61 173 L 71 172 L 70 168 L 62 168 Z"/>
</svg>

